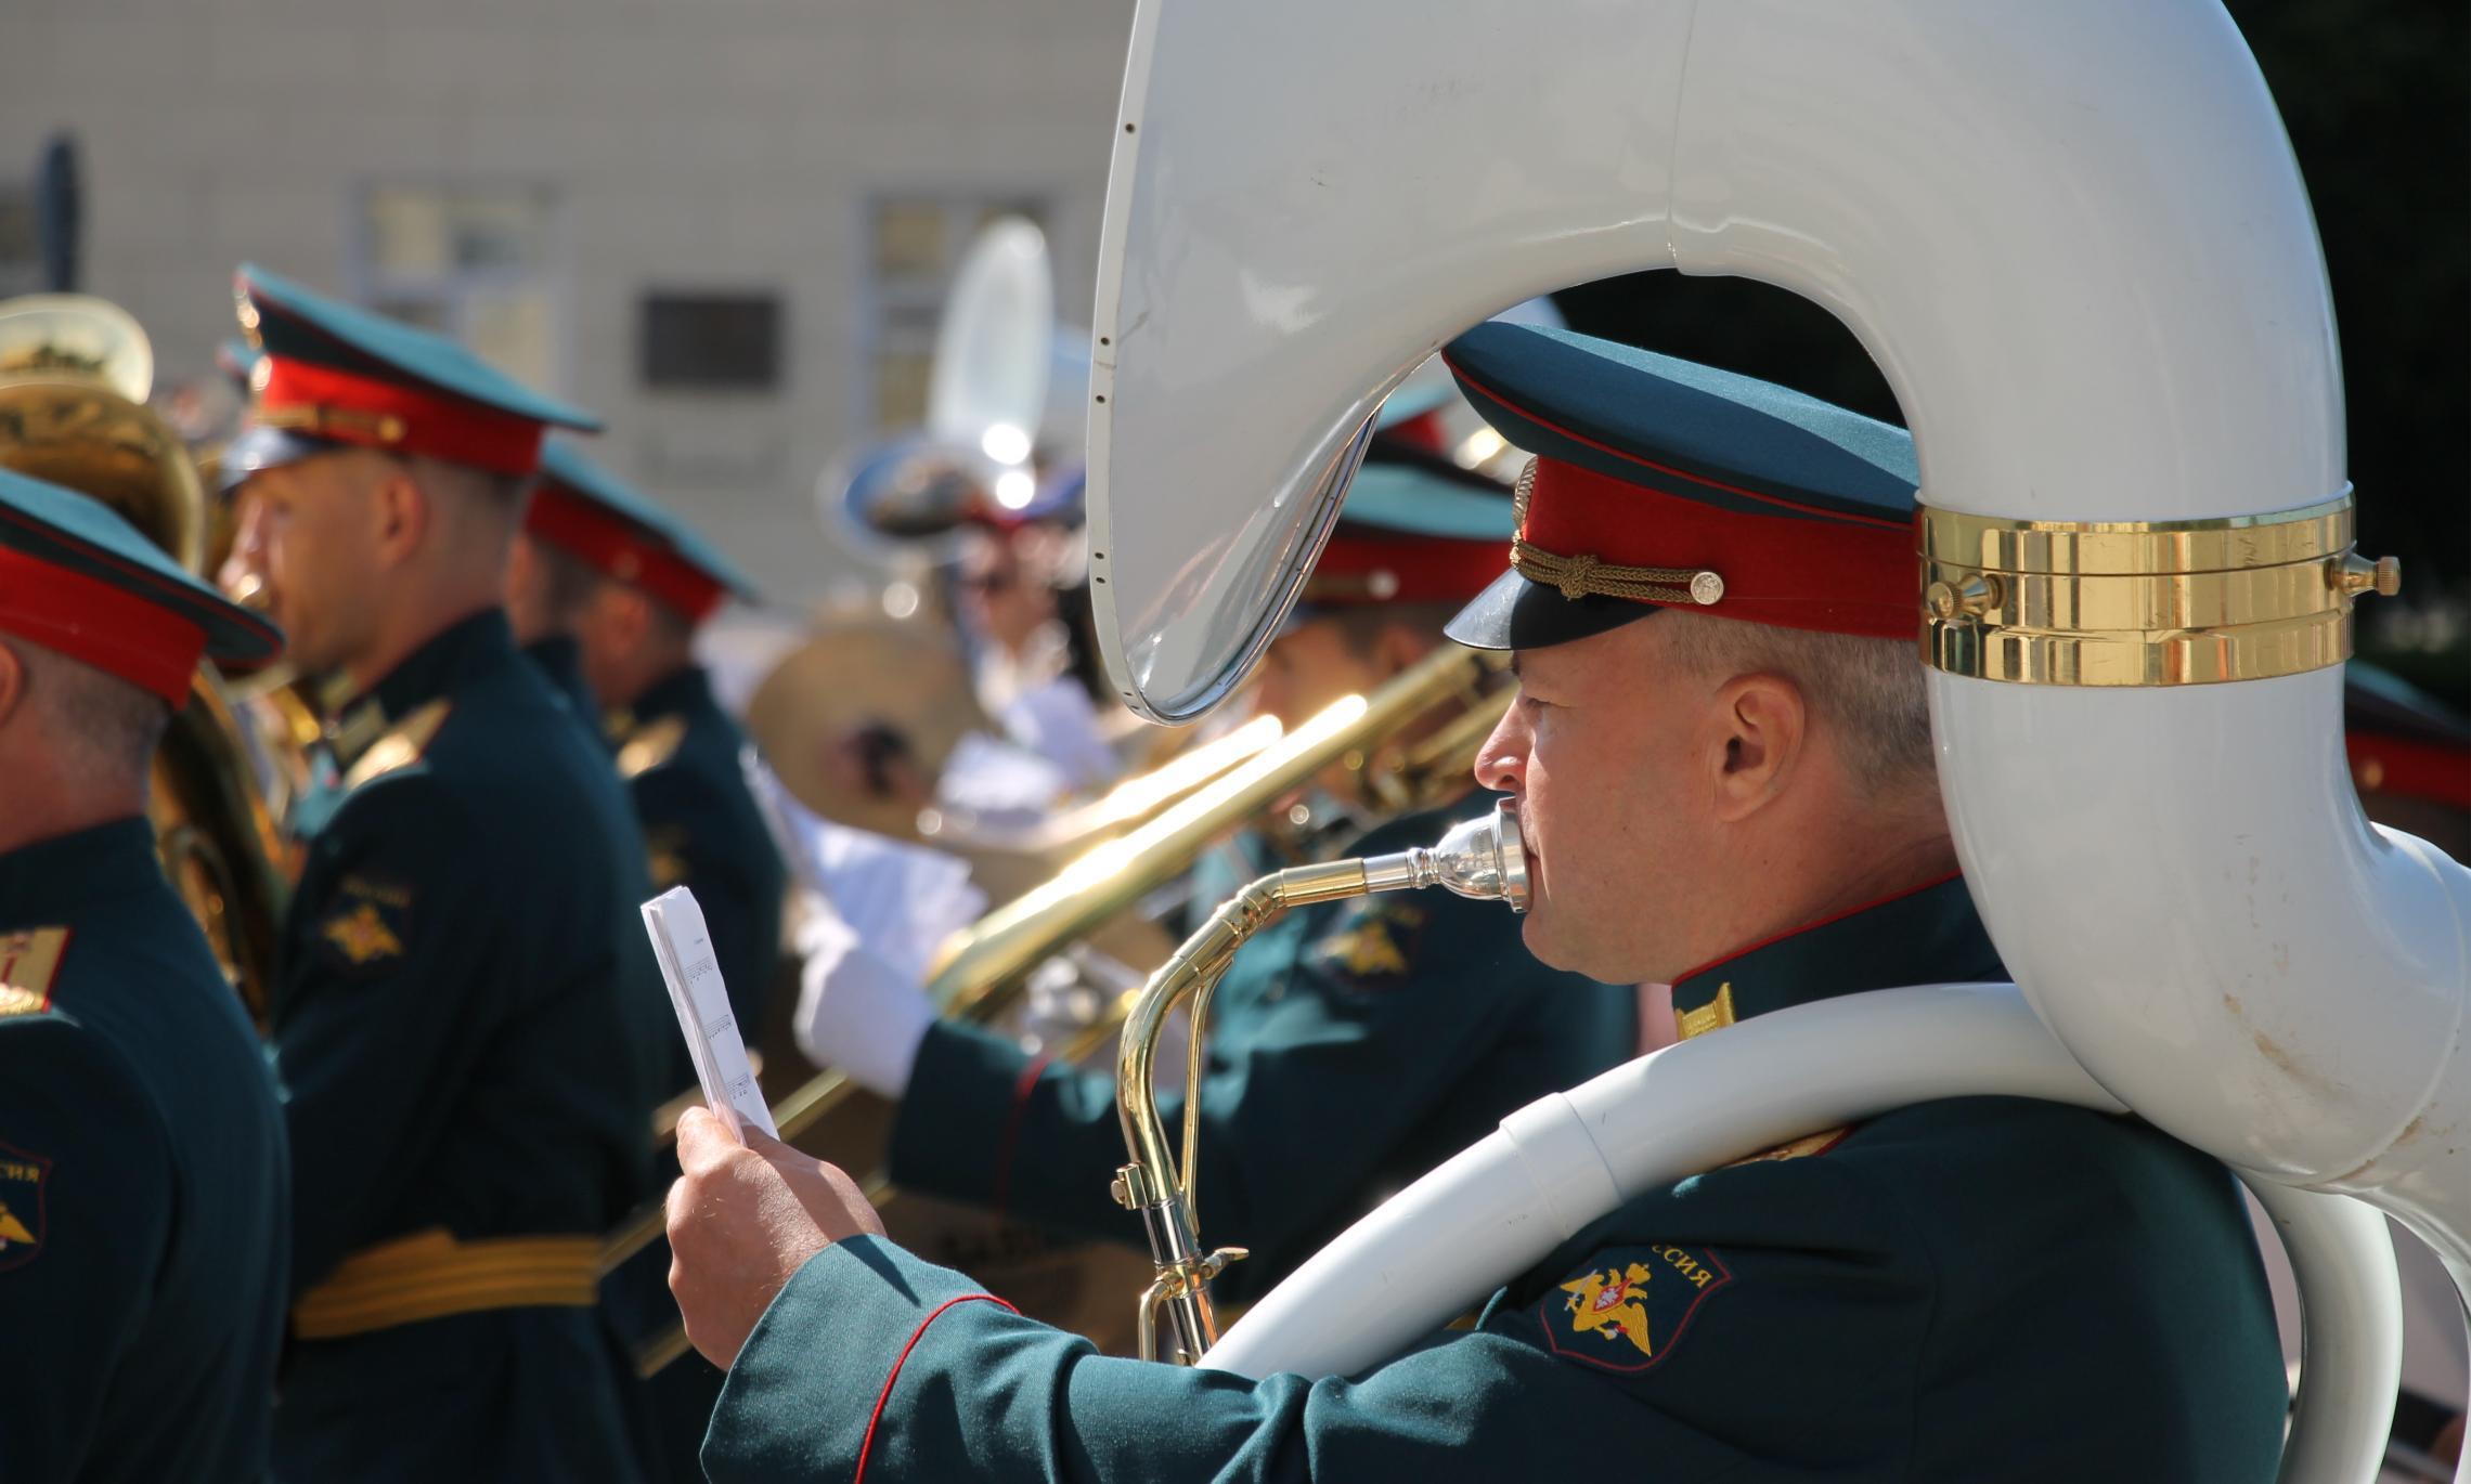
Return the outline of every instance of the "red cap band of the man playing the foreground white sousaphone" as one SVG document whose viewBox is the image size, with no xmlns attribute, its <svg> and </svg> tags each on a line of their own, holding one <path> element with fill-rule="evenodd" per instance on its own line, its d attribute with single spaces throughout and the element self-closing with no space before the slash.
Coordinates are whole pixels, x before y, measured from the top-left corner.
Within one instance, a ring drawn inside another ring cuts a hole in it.
<svg viewBox="0 0 2471 1484">
<path fill-rule="evenodd" d="M 1636 598 L 1658 607 L 1873 640 L 1910 640 L 1922 622 L 1910 521 L 1752 516 L 1537 459 L 1520 541 L 1557 558 L 1722 578 L 1707 605 Z"/>
</svg>

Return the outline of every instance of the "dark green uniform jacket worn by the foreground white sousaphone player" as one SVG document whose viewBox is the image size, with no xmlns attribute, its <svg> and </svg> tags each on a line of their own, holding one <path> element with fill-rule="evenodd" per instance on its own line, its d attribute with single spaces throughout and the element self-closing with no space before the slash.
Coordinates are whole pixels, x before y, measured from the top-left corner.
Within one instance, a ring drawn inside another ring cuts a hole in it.
<svg viewBox="0 0 2471 1484">
<path fill-rule="evenodd" d="M 1720 1005 L 1972 978 L 2004 975 L 1950 882 L 1710 965 L 1675 1005 L 1707 1032 Z M 2283 1407 L 2221 1165 L 2132 1119 L 1957 1099 L 1643 1195 L 1512 1279 L 1473 1333 L 1354 1380 L 1100 1358 L 956 1272 L 840 1242 L 756 1326 L 704 1467 L 722 1484 L 2266 1484 Z"/>
</svg>

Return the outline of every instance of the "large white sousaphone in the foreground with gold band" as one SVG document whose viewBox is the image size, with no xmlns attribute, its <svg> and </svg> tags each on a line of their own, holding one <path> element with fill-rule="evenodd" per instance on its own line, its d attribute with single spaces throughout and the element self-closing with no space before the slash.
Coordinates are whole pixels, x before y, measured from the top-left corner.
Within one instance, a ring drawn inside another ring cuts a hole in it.
<svg viewBox="0 0 2471 1484">
<path fill-rule="evenodd" d="M 1297 35 L 1263 109 L 1240 59 Z M 1505 304 L 1651 267 L 1814 299 L 1888 375 L 1942 788 L 2016 988 L 1809 1005 L 1544 1099 L 1203 1363 L 1352 1373 L 1628 1193 L 2031 1094 L 2258 1190 L 2308 1299 L 2283 1477 L 2372 1477 L 2375 1212 L 2471 1291 L 2471 872 L 2372 827 L 2343 763 L 2350 602 L 2392 573 L 2350 551 L 2315 222 L 2216 2 L 1142 0 L 1090 385 L 1117 691 L 1228 696 L 1384 395 Z"/>
</svg>

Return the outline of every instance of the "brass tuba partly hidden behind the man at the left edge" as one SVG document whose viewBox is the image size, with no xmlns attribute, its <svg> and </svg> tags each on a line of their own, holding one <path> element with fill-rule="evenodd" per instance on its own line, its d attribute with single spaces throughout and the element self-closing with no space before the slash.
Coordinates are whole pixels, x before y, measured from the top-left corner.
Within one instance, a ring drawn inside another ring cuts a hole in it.
<svg viewBox="0 0 2471 1484">
<path fill-rule="evenodd" d="M 0 301 L 0 467 L 89 494 L 180 565 L 205 558 L 205 491 L 146 395 L 146 331 L 104 299 Z M 267 1015 L 282 842 L 222 682 L 200 667 L 156 748 L 151 817 L 170 877 L 250 1012 Z"/>
</svg>

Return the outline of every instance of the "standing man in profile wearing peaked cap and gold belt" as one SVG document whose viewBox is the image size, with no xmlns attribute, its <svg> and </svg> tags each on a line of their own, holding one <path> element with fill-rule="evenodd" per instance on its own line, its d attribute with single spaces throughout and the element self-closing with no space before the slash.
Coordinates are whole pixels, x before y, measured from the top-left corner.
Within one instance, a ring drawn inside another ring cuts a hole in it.
<svg viewBox="0 0 2471 1484">
<path fill-rule="evenodd" d="M 677 1022 L 628 993 L 625 795 L 499 607 L 544 430 L 593 422 L 262 269 L 240 323 L 264 361 L 225 472 L 297 664 L 351 686 L 272 1025 L 299 1193 L 274 1474 L 633 1479 L 593 1304 Z"/>
</svg>

